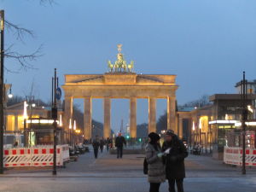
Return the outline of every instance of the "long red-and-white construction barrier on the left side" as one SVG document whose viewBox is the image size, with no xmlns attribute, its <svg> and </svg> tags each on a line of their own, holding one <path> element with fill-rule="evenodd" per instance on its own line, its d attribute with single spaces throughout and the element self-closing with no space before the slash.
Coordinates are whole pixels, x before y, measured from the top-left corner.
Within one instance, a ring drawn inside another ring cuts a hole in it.
<svg viewBox="0 0 256 192">
<path fill-rule="evenodd" d="M 3 152 L 3 166 L 52 166 L 53 146 L 37 146 L 35 148 L 9 148 Z M 68 145 L 57 145 L 56 165 L 63 166 L 69 160 Z"/>
</svg>

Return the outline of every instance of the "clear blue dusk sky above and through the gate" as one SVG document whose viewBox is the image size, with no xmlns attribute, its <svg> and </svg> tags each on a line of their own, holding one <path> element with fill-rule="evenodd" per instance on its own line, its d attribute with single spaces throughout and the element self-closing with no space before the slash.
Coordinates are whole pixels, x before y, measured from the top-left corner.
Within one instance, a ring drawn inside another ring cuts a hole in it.
<svg viewBox="0 0 256 192">
<path fill-rule="evenodd" d="M 15 95 L 25 96 L 32 81 L 35 96 L 49 100 L 50 80 L 56 67 L 64 74 L 106 73 L 107 61 L 115 61 L 117 44 L 123 44 L 135 72 L 177 74 L 177 102 L 215 93 L 233 93 L 241 80 L 256 79 L 255 0 L 55 0 L 52 6 L 39 0 L 0 0 L 5 19 L 32 29 L 35 38 L 24 43 L 6 30 L 5 46 L 31 53 L 43 44 L 32 61 L 36 70 L 6 73 Z M 9 70 L 20 68 L 5 60 Z M 76 100 L 77 104 L 81 101 Z M 157 115 L 166 101 L 157 102 Z M 83 105 L 82 105 L 83 106 Z M 81 107 L 83 109 L 83 107 Z M 129 117 L 128 100 L 113 100 L 112 128 Z M 93 119 L 103 121 L 102 100 L 93 102 Z M 147 100 L 137 102 L 137 123 L 148 121 Z"/>
</svg>

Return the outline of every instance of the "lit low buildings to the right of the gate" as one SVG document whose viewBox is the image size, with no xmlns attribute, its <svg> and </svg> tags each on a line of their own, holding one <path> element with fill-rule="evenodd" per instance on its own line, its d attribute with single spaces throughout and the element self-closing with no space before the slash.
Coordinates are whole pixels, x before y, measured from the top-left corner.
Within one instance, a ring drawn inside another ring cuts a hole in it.
<svg viewBox="0 0 256 192">
<path fill-rule="evenodd" d="M 247 148 L 256 148 L 256 82 L 247 84 Z M 236 84 L 239 90 L 241 84 Z M 211 105 L 202 108 L 178 108 L 177 134 L 191 146 L 201 144 L 213 157 L 222 159 L 224 146 L 241 146 L 241 95 L 215 94 Z"/>
</svg>

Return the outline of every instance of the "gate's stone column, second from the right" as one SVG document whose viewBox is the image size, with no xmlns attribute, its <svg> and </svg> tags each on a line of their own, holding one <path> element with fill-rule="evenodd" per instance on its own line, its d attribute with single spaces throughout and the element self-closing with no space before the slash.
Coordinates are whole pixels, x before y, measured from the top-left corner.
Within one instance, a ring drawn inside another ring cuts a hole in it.
<svg viewBox="0 0 256 192">
<path fill-rule="evenodd" d="M 148 133 L 156 132 L 156 123 L 155 123 L 155 112 L 156 103 L 155 98 L 148 98 Z"/>
</svg>

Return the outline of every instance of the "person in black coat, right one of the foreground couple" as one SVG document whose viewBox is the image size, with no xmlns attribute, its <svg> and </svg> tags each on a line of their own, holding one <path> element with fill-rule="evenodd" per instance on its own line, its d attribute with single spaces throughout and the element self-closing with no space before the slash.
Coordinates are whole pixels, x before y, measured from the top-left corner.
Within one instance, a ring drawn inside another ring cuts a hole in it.
<svg viewBox="0 0 256 192">
<path fill-rule="evenodd" d="M 169 183 L 169 192 L 183 192 L 183 178 L 185 177 L 184 159 L 188 156 L 187 148 L 174 134 L 174 131 L 166 131 L 165 142 L 162 151 L 166 154 L 166 179 Z"/>
</svg>

